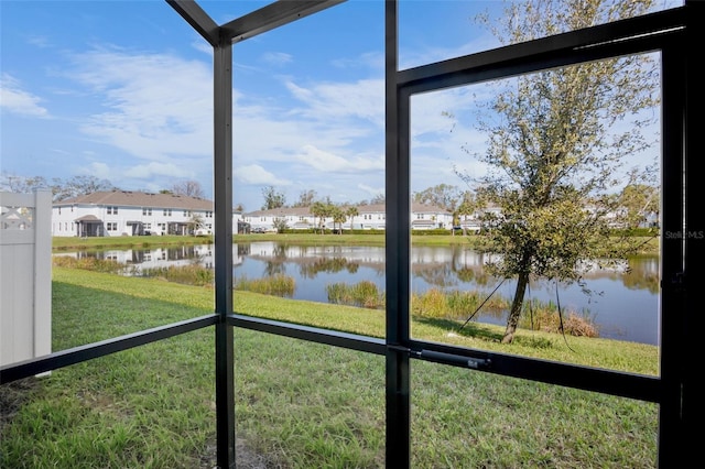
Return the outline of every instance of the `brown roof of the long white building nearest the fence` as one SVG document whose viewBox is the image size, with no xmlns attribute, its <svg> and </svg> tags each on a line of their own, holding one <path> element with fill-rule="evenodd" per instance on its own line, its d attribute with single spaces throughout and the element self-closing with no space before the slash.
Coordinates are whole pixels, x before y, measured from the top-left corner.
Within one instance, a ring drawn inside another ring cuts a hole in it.
<svg viewBox="0 0 705 469">
<path fill-rule="evenodd" d="M 203 198 L 178 196 L 174 194 L 150 194 L 132 190 L 104 190 L 70 197 L 57 203 L 54 207 L 70 205 L 102 205 L 116 207 L 153 207 L 181 210 L 213 210 L 213 201 Z"/>
</svg>

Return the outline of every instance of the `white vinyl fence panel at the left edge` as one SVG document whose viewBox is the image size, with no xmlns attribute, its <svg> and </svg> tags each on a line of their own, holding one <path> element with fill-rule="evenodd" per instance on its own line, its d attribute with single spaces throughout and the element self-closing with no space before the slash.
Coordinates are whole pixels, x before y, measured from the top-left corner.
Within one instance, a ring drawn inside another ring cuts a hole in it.
<svg viewBox="0 0 705 469">
<path fill-rule="evenodd" d="M 0 193 L 0 366 L 52 352 L 52 194 Z"/>
</svg>

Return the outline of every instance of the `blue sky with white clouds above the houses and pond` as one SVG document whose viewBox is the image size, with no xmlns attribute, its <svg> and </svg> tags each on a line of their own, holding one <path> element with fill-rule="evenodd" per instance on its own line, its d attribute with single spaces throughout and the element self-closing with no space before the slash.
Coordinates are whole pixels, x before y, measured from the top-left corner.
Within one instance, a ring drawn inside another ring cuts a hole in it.
<svg viewBox="0 0 705 469">
<path fill-rule="evenodd" d="M 262 1 L 199 1 L 223 24 Z M 234 46 L 234 203 L 384 190 L 383 1 L 340 6 Z M 473 18 L 498 1 L 402 0 L 400 68 L 497 46 Z M 91 175 L 128 190 L 195 179 L 213 196 L 213 53 L 163 0 L 0 0 L 0 171 Z M 412 190 L 460 186 L 456 117 L 477 89 L 412 100 Z"/>
</svg>

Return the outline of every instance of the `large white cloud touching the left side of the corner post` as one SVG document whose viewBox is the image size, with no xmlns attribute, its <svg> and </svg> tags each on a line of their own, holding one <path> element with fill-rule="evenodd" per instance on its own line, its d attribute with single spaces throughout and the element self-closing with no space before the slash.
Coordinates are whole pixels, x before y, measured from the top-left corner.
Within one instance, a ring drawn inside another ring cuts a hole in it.
<svg viewBox="0 0 705 469">
<path fill-rule="evenodd" d="M 75 57 L 73 78 L 108 110 L 82 131 L 141 159 L 165 162 L 212 152 L 213 77 L 202 62 L 95 50 Z"/>
</svg>

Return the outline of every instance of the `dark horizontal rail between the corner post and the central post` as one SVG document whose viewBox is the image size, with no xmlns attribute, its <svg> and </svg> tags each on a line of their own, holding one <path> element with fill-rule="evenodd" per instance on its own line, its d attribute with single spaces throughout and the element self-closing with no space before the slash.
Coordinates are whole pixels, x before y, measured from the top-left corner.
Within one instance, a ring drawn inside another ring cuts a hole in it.
<svg viewBox="0 0 705 469">
<path fill-rule="evenodd" d="M 301 326 L 292 323 L 262 319 L 252 316 L 229 315 L 228 323 L 243 329 L 259 330 L 278 336 L 292 337 L 317 343 L 343 347 L 369 353 L 384 355 L 387 346 L 381 338 L 360 336 L 357 334 L 339 332 L 317 327 Z"/>
</svg>

